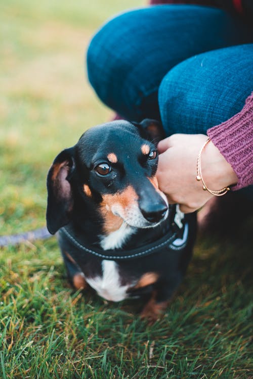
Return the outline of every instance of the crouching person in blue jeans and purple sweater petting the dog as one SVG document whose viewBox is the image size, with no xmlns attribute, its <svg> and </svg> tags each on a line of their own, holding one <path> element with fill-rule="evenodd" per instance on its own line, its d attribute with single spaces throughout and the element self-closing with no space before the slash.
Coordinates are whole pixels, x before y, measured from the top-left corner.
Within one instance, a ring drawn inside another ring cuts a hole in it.
<svg viewBox="0 0 253 379">
<path fill-rule="evenodd" d="M 118 117 L 161 121 L 159 187 L 185 213 L 228 189 L 252 202 L 252 15 L 247 0 L 153 0 L 109 20 L 89 45 L 102 102 Z"/>
</svg>

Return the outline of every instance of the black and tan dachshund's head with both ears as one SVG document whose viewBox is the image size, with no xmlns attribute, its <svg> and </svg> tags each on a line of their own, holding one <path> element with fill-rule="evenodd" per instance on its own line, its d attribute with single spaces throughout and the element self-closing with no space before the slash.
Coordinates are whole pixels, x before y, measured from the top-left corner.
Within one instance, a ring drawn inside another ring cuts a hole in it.
<svg viewBox="0 0 253 379">
<path fill-rule="evenodd" d="M 54 234 L 73 217 L 99 218 L 103 233 L 122 223 L 157 226 L 168 214 L 156 180 L 161 128 L 117 120 L 87 130 L 54 160 L 47 179 L 47 226 Z M 81 216 L 80 216 L 81 215 Z"/>
</svg>

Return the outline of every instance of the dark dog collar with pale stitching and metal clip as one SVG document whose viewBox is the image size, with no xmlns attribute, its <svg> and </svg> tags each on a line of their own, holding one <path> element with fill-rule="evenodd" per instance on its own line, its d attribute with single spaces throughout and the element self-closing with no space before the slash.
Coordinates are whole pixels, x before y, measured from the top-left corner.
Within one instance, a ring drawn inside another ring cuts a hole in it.
<svg viewBox="0 0 253 379">
<path fill-rule="evenodd" d="M 95 249 L 94 247 L 91 249 L 89 246 L 83 245 L 80 241 L 74 238 L 74 236 L 71 235 L 65 227 L 62 227 L 59 230 L 59 234 L 60 236 L 64 235 L 76 248 L 82 250 L 83 252 L 106 260 L 140 258 L 146 255 L 154 254 L 163 247 L 168 247 L 172 250 L 182 250 L 186 246 L 188 240 L 188 223 L 184 222 L 185 215 L 179 210 L 178 205 L 170 206 L 170 212 L 174 213 L 174 217 L 170 217 L 173 221 L 171 221 L 171 225 L 167 233 L 155 242 L 131 250 L 114 249 L 105 251 L 97 247 Z M 105 252 L 107 254 L 105 254 Z"/>
</svg>

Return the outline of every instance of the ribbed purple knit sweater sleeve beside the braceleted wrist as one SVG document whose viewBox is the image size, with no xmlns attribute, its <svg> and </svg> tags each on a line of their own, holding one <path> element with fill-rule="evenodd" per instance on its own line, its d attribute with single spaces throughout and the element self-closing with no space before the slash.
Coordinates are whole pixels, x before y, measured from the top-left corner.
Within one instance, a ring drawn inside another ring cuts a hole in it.
<svg viewBox="0 0 253 379">
<path fill-rule="evenodd" d="M 207 135 L 238 177 L 231 189 L 253 184 L 253 92 L 239 113 L 208 129 Z"/>
</svg>

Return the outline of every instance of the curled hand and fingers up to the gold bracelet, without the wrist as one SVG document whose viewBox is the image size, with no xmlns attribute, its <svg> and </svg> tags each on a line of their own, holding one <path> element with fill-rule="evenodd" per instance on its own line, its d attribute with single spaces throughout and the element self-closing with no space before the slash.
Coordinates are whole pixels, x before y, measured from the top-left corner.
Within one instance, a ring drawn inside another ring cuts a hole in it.
<svg viewBox="0 0 253 379">
<path fill-rule="evenodd" d="M 183 213 L 199 209 L 210 194 L 202 191 L 196 181 L 196 162 L 199 149 L 206 141 L 202 134 L 173 134 L 157 146 L 159 162 L 157 180 L 169 204 L 179 204 Z"/>
</svg>

